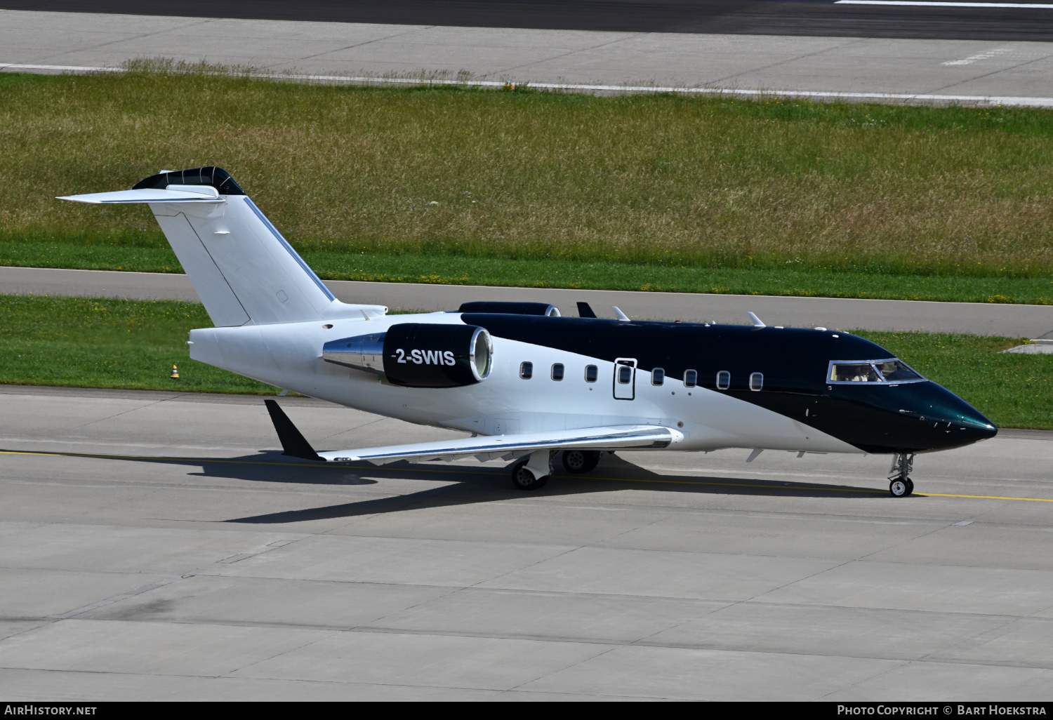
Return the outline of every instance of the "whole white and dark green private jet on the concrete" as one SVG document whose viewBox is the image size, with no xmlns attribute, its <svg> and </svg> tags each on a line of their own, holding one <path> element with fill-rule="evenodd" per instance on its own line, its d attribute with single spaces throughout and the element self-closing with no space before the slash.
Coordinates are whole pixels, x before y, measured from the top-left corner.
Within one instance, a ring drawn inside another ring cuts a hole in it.
<svg viewBox="0 0 1053 720">
<path fill-rule="evenodd" d="M 380 415 L 471 437 L 317 453 L 277 402 L 286 455 L 376 464 L 515 460 L 513 484 L 554 463 L 593 469 L 619 449 L 883 453 L 889 492 L 910 495 L 916 453 L 994 437 L 953 393 L 880 346 L 821 327 L 577 318 L 544 303 L 465 303 L 388 316 L 334 297 L 229 173 L 162 171 L 132 189 L 61 198 L 146 203 L 215 327 L 195 360 Z"/>
</svg>

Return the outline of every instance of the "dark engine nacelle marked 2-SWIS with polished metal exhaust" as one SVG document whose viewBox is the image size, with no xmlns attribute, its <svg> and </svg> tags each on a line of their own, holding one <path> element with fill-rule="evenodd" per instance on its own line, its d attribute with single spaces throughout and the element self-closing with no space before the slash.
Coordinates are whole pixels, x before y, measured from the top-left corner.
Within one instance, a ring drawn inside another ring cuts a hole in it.
<svg viewBox="0 0 1053 720">
<path fill-rule="evenodd" d="M 384 376 L 406 387 L 460 387 L 493 367 L 494 341 L 482 327 L 405 322 L 386 333 L 331 340 L 325 362 Z"/>
</svg>

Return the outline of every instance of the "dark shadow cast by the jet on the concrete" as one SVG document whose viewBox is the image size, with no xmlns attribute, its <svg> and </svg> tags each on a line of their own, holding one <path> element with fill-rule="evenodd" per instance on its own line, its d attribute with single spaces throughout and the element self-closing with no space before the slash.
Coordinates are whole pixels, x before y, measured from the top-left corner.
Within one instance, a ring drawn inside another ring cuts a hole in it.
<svg viewBox="0 0 1053 720">
<path fill-rule="evenodd" d="M 18 451 L 14 451 L 18 452 Z M 542 496 L 582 496 L 614 489 L 649 489 L 663 493 L 691 493 L 696 495 L 756 495 L 798 498 L 885 498 L 888 493 L 873 487 L 815 482 L 784 482 L 754 478 L 727 478 L 720 476 L 662 475 L 628 462 L 616 455 L 603 457 L 600 465 L 591 473 L 569 475 L 562 467 L 541 489 L 524 493 L 512 487 L 508 467 L 475 464 L 418 465 L 396 462 L 383 466 L 333 465 L 283 457 L 277 451 L 235 458 L 194 458 L 143 456 L 112 456 L 81 453 L 56 453 L 65 457 L 104 458 L 158 464 L 194 465 L 200 472 L 193 477 L 224 478 L 249 482 L 280 482 L 312 485 L 373 485 L 377 476 L 396 472 L 403 477 L 418 480 L 442 480 L 439 487 L 386 498 L 357 500 L 354 502 L 290 509 L 220 522 L 249 524 L 283 524 L 310 520 L 332 520 L 363 515 L 395 513 L 405 509 L 423 509 L 454 505 L 469 505 L 498 500 L 524 499 Z M 912 496 L 919 497 L 919 496 Z"/>
</svg>

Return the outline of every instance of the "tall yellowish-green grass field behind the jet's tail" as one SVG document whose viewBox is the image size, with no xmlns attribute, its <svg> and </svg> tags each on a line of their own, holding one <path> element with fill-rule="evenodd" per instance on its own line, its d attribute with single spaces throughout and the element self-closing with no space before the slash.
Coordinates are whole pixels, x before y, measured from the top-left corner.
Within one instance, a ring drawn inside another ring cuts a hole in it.
<svg viewBox="0 0 1053 720">
<path fill-rule="evenodd" d="M 3 74 L 0 262 L 171 267 L 146 208 L 52 198 L 218 164 L 330 277 L 1053 302 L 1051 139 L 1041 109 Z"/>
</svg>

